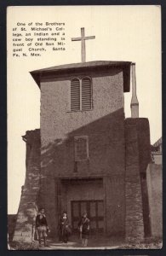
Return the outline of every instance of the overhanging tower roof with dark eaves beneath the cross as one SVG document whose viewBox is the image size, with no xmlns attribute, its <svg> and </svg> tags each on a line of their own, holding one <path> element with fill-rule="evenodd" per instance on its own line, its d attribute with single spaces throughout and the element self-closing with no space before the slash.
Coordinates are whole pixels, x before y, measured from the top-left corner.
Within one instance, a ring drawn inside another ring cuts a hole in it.
<svg viewBox="0 0 166 256">
<path fill-rule="evenodd" d="M 31 76 L 40 87 L 41 77 L 48 75 L 49 73 L 54 73 L 54 77 L 63 75 L 66 73 L 73 74 L 78 72 L 85 72 L 87 70 L 97 71 L 108 71 L 109 68 L 121 67 L 123 69 L 123 81 L 124 81 L 124 92 L 129 92 L 130 88 L 130 61 L 89 61 L 89 62 L 79 62 L 72 64 L 59 65 L 54 67 L 47 67 L 43 69 L 38 69 L 31 71 Z"/>
</svg>

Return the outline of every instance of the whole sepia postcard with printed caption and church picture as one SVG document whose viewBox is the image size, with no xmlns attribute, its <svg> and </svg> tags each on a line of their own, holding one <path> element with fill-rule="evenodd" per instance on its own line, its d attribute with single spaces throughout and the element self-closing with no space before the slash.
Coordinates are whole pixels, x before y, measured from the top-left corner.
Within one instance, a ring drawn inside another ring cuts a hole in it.
<svg viewBox="0 0 166 256">
<path fill-rule="evenodd" d="M 161 248 L 161 6 L 9 6 L 7 49 L 9 249 Z"/>
</svg>

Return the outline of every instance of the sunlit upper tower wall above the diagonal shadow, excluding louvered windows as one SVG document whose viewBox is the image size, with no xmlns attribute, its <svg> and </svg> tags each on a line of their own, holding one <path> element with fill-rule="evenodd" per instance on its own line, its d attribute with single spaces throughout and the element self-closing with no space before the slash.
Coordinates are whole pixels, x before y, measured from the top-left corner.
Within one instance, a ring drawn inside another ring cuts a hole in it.
<svg viewBox="0 0 166 256">
<path fill-rule="evenodd" d="M 93 109 L 70 112 L 71 79 L 83 76 L 92 79 Z M 100 74 L 87 71 L 64 78 L 41 78 L 40 87 L 42 147 L 123 108 L 123 70 L 119 67 Z"/>
</svg>

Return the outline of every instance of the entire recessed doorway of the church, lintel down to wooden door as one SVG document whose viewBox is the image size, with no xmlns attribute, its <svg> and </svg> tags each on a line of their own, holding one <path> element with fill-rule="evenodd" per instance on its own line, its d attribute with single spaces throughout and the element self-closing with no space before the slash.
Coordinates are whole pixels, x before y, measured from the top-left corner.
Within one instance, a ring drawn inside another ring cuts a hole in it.
<svg viewBox="0 0 166 256">
<path fill-rule="evenodd" d="M 90 234 L 100 235 L 106 230 L 105 196 L 102 177 L 63 179 L 60 182 L 59 212 L 64 209 L 72 234 L 78 235 L 77 224 L 87 212 L 90 219 Z"/>
</svg>

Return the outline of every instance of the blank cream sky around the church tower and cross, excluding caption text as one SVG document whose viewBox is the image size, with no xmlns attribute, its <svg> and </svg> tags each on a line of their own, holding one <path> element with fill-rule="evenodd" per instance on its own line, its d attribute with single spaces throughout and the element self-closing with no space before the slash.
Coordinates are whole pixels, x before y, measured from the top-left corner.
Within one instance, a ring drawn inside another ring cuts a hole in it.
<svg viewBox="0 0 166 256">
<path fill-rule="evenodd" d="M 66 51 L 49 51 L 41 57 L 13 57 L 13 28 L 17 22 L 65 22 Z M 81 43 L 71 38 L 95 36 L 86 41 L 86 61 L 132 61 L 140 117 L 149 119 L 151 143 L 162 136 L 161 8 L 142 6 L 32 6 L 7 10 L 8 49 L 8 212 L 16 213 L 26 176 L 26 143 L 21 136 L 40 127 L 40 90 L 32 70 L 81 61 Z M 130 117 L 131 92 L 124 95 L 125 116 Z"/>
</svg>

